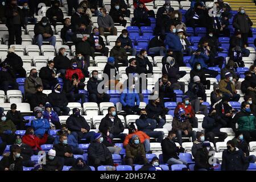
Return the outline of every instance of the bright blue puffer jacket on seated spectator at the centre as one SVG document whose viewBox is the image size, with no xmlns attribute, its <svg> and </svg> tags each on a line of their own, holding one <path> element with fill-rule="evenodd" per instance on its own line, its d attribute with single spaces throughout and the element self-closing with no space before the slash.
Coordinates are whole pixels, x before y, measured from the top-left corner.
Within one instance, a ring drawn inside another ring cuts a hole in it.
<svg viewBox="0 0 256 182">
<path fill-rule="evenodd" d="M 131 90 L 123 90 L 121 96 L 120 96 L 120 102 L 122 104 L 122 106 L 135 106 L 135 102 L 136 105 L 139 106 L 139 94 L 135 91 L 133 91 L 133 93 L 131 92 Z"/>
</svg>

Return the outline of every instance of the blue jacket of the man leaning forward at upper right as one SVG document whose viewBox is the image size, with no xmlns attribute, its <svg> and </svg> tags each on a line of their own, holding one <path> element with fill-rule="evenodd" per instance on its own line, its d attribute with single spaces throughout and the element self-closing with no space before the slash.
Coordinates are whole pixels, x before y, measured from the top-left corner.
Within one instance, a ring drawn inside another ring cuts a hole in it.
<svg viewBox="0 0 256 182">
<path fill-rule="evenodd" d="M 175 35 L 172 32 L 169 32 L 166 35 L 166 40 L 164 40 L 164 44 L 168 46 L 172 51 L 181 51 L 182 44 L 180 42 L 179 36 Z"/>
</svg>

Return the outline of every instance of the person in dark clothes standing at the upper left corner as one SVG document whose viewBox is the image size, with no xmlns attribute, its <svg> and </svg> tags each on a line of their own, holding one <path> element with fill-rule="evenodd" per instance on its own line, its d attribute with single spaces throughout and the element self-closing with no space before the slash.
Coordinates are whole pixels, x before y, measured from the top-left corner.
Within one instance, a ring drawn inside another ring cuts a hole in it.
<svg viewBox="0 0 256 182">
<path fill-rule="evenodd" d="M 14 44 L 22 44 L 22 27 L 24 29 L 23 12 L 17 4 L 16 0 L 11 0 L 7 3 L 5 8 L 6 27 L 8 28 L 9 40 L 8 46 Z M 14 39 L 15 37 L 15 39 Z"/>
</svg>

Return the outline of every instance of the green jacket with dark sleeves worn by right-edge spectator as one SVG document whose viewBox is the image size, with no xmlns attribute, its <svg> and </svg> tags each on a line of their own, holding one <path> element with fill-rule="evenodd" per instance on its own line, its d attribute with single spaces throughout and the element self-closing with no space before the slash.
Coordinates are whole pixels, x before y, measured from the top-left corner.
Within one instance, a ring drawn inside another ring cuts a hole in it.
<svg viewBox="0 0 256 182">
<path fill-rule="evenodd" d="M 238 123 L 238 131 L 254 131 L 256 125 L 256 118 L 253 114 L 241 110 L 233 118 Z"/>
</svg>

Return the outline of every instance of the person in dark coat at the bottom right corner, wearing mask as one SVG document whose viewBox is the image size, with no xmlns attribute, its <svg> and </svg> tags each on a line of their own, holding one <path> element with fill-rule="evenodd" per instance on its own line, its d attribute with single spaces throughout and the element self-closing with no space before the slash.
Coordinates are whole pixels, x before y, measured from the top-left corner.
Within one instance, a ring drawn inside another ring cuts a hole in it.
<svg viewBox="0 0 256 182">
<path fill-rule="evenodd" d="M 232 140 L 226 143 L 227 149 L 222 152 L 221 171 L 246 171 L 249 162 L 242 150 Z"/>
</svg>

